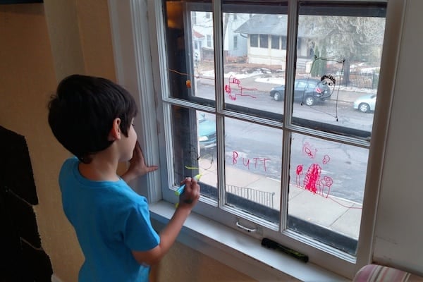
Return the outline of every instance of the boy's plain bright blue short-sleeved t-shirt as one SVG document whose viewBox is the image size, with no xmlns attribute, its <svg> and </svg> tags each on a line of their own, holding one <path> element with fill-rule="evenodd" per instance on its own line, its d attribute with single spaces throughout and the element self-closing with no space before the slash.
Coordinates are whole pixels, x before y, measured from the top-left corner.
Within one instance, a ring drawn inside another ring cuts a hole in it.
<svg viewBox="0 0 423 282">
<path fill-rule="evenodd" d="M 138 264 L 131 253 L 151 250 L 160 242 L 147 200 L 123 179 L 84 178 L 78 164 L 76 158 L 67 159 L 59 175 L 63 210 L 85 256 L 78 280 L 148 281 L 149 266 Z"/>
</svg>

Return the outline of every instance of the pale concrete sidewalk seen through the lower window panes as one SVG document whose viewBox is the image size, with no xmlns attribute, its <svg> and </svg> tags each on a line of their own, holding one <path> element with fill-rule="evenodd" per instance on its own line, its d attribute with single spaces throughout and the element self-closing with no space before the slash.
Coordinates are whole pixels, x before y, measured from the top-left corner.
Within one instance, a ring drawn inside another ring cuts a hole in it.
<svg viewBox="0 0 423 282">
<path fill-rule="evenodd" d="M 201 182 L 216 187 L 216 167 L 202 171 Z M 274 209 L 280 210 L 281 183 L 244 171 L 231 165 L 226 166 L 226 184 L 252 188 L 259 191 L 274 192 Z M 309 190 L 290 184 L 288 195 L 288 214 L 302 220 L 324 226 L 350 238 L 358 238 L 362 205 L 329 195 L 324 197 Z"/>
</svg>

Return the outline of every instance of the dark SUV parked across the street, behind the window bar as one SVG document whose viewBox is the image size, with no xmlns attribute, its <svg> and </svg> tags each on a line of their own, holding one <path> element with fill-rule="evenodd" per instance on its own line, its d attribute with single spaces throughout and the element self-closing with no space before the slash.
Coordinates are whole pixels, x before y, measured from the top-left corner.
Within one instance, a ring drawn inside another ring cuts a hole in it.
<svg viewBox="0 0 423 282">
<path fill-rule="evenodd" d="M 283 101 L 285 85 L 274 87 L 270 90 L 270 96 L 275 101 Z M 321 80 L 314 78 L 298 78 L 295 80 L 294 100 L 312 106 L 316 102 L 323 102 L 331 97 L 331 89 L 324 85 Z"/>
</svg>

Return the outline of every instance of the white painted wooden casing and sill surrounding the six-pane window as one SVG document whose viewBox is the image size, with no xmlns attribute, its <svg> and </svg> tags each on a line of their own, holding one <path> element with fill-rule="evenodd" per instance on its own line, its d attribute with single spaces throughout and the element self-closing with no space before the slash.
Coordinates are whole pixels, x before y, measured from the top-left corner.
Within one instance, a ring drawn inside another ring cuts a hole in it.
<svg viewBox="0 0 423 282">
<path fill-rule="evenodd" d="M 290 1 L 288 13 L 296 13 L 296 3 L 296 1 Z M 173 205 L 166 204 L 162 201 L 161 187 L 165 189 L 171 187 L 172 184 L 169 180 L 171 179 L 171 171 L 169 171 L 165 161 L 161 162 L 163 157 L 159 157 L 159 153 L 163 151 L 171 152 L 171 148 L 168 145 L 170 142 L 166 142 L 169 138 L 166 133 L 171 132 L 171 130 L 168 128 L 170 125 L 164 123 L 166 118 L 168 118 L 166 115 L 169 113 L 166 112 L 166 110 L 164 111 L 162 106 L 157 106 L 154 97 L 154 93 L 157 93 L 159 97 L 161 97 L 161 89 L 166 87 L 166 79 L 163 79 L 166 78 L 166 72 L 163 71 L 162 68 L 153 68 L 153 66 L 157 66 L 156 63 L 159 61 L 159 58 L 164 56 L 164 50 L 157 48 L 157 46 L 163 43 L 160 42 L 161 38 L 160 36 L 158 38 L 157 34 L 160 35 L 164 30 L 161 26 L 160 6 L 161 4 L 159 4 L 159 1 L 154 0 L 109 0 L 118 82 L 133 93 L 140 107 L 140 122 L 137 123 L 137 133 L 147 163 L 160 164 L 159 171 L 149 173 L 147 176 L 131 183 L 131 185 L 137 192 L 148 197 L 149 202 L 152 203 L 152 214 L 154 218 L 157 219 L 157 222 L 166 223 L 171 216 L 171 207 L 173 207 Z M 216 13 L 214 13 L 214 20 L 216 21 L 220 19 L 219 1 L 215 1 L 214 9 L 216 11 Z M 352 278 L 361 266 L 372 261 L 374 221 L 382 173 L 380 164 L 383 161 L 384 148 L 386 146 L 392 90 L 394 88 L 393 85 L 395 83 L 394 78 L 396 74 L 393 70 L 396 69 L 397 62 L 392 58 L 396 58 L 399 49 L 400 26 L 401 23 L 403 23 L 402 12 L 404 9 L 405 4 L 401 0 L 391 0 L 388 2 L 386 30 L 389 30 L 389 32 L 385 34 L 379 91 L 385 91 L 386 93 L 391 93 L 391 95 L 387 94 L 381 97 L 381 99 L 378 98 L 378 104 L 376 106 L 368 166 L 368 171 L 372 171 L 372 173 L 367 173 L 368 177 L 364 194 L 360 241 L 356 259 L 348 256 L 340 258 L 342 255 L 336 251 L 333 253 L 323 252 L 320 250 L 318 243 L 316 243 L 316 245 L 305 245 L 302 250 L 300 250 L 309 255 L 311 263 L 298 264 L 295 262 L 292 264 L 292 259 L 283 257 L 283 263 L 288 265 L 281 266 L 272 264 L 269 262 L 269 259 L 266 259 L 266 256 L 275 259 L 274 252 L 266 250 L 266 254 L 263 255 L 264 250 L 262 250 L 263 248 L 261 246 L 257 249 L 253 247 L 257 242 L 253 242 L 252 245 L 247 248 L 250 250 L 245 250 L 239 243 L 233 243 L 237 240 L 245 240 L 245 244 L 249 245 L 250 243 L 247 243 L 247 241 L 251 241 L 251 239 L 246 238 L 238 231 L 233 231 L 231 228 L 219 224 L 219 220 L 223 220 L 226 216 L 223 212 L 216 214 L 216 222 L 210 222 L 209 219 L 206 220 L 201 216 L 192 214 L 190 220 L 185 224 L 187 228 L 183 231 L 183 234 L 191 236 L 192 238 L 197 238 L 197 240 L 201 241 L 197 244 L 198 250 L 202 249 L 202 247 L 200 247 L 201 244 L 208 244 L 216 247 L 216 250 L 212 252 L 204 252 L 215 258 L 223 258 L 228 255 L 228 252 L 231 253 L 230 255 L 232 257 L 239 257 L 240 253 L 241 257 L 247 259 L 247 263 L 255 264 L 255 266 L 260 265 L 257 266 L 259 269 L 260 267 L 263 268 L 263 266 L 271 266 L 270 268 L 265 268 L 266 270 L 264 272 L 269 271 L 269 269 L 274 269 L 276 272 L 280 271 L 281 273 L 300 278 L 301 280 L 307 280 L 307 278 L 304 278 L 305 276 L 307 277 L 307 275 L 311 278 L 339 278 L 339 276 L 331 274 L 330 271 L 324 271 L 321 267 L 331 269 L 331 271 L 338 275 Z M 147 15 L 149 16 L 147 17 Z M 295 34 L 292 24 L 288 25 L 288 29 L 289 28 L 291 34 Z M 288 35 L 290 32 L 288 31 Z M 221 44 L 221 39 L 216 37 L 216 35 L 214 36 L 214 44 Z M 294 54 L 288 54 L 288 56 L 294 56 Z M 150 58 L 152 58 L 154 63 Z M 219 79 L 221 78 L 216 77 L 216 80 Z M 377 109 L 383 110 L 377 111 Z M 159 125 L 161 125 L 161 127 L 159 127 Z M 163 154 L 161 156 L 163 156 Z M 164 159 L 166 159 L 166 156 Z M 372 189 L 370 189 L 370 187 L 372 187 Z M 195 212 L 207 208 L 206 204 L 199 203 Z M 201 225 L 204 228 L 207 224 L 209 226 L 209 232 L 204 232 L 204 230 L 201 231 L 200 228 L 196 227 Z M 222 237 L 222 235 L 219 236 L 216 234 L 233 234 L 235 239 Z M 211 243 L 210 240 L 214 240 L 214 242 Z M 231 240 L 233 241 L 232 243 Z M 288 245 L 295 245 L 297 240 L 300 240 L 300 238 L 296 238 L 295 235 L 286 236 L 286 243 Z M 196 246 L 195 244 L 192 245 L 193 247 Z M 223 249 L 226 249 L 226 251 L 223 251 Z M 243 254 L 246 256 L 243 256 Z M 276 255 L 281 259 L 281 255 Z M 280 263 L 281 261 L 277 260 L 277 262 Z M 319 264 L 321 267 L 315 264 Z M 238 270 L 243 269 L 246 274 L 255 277 L 255 274 L 253 274 L 254 271 L 248 271 L 248 267 L 237 267 L 234 262 L 228 262 L 228 265 Z M 262 275 L 265 276 L 265 274 Z"/>
</svg>

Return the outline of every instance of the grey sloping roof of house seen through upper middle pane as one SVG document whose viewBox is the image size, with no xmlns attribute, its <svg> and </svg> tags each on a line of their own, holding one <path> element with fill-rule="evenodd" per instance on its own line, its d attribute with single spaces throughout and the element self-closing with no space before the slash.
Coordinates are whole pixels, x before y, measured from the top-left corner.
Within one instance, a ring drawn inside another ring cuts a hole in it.
<svg viewBox="0 0 423 282">
<path fill-rule="evenodd" d="M 255 14 L 235 32 L 247 35 L 286 35 L 287 26 L 287 15 Z M 299 29 L 298 37 L 304 37 L 304 35 L 305 32 Z"/>
</svg>

